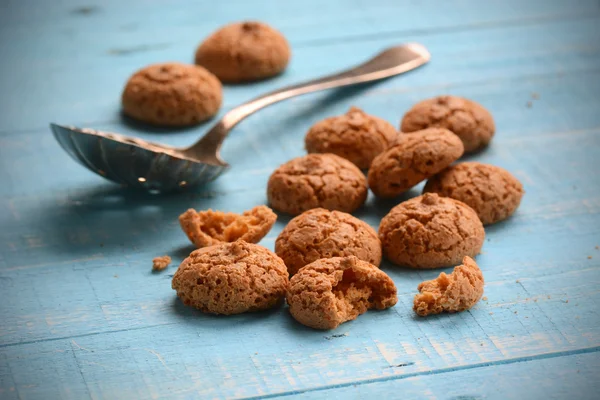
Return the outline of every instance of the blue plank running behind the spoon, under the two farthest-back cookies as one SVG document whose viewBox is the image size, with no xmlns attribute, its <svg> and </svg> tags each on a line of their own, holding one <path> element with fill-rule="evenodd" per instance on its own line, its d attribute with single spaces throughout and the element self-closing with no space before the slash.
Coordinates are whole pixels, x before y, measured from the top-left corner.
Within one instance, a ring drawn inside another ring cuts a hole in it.
<svg viewBox="0 0 600 400">
<path fill-rule="evenodd" d="M 427 34 L 400 32 L 301 47 L 295 51 L 294 61 L 284 75 L 255 85 L 226 87 L 224 105 L 227 109 L 286 84 L 347 68 L 382 48 L 407 41 L 423 42 L 434 55 L 431 64 L 406 78 L 377 85 L 378 88 L 445 86 L 515 75 L 588 70 L 596 68 L 600 57 L 599 15 L 600 11 L 591 12 L 583 19 L 491 27 L 478 31 L 477 41 L 472 41 L 473 33 L 469 30 Z M 107 39 L 103 35 L 94 37 L 106 46 Z M 149 53 L 115 55 L 106 54 L 107 50 L 95 50 L 86 55 L 82 50 L 81 60 L 78 60 L 70 58 L 69 52 L 74 46 L 86 49 L 89 44 L 77 45 L 41 35 L 41 40 L 46 38 L 49 43 L 23 38 L 3 42 L 9 47 L 0 48 L 6 60 L 0 66 L 0 87 L 5 92 L 19 94 L 0 99 L 0 110 L 7 116 L 0 121 L 0 132 L 42 128 L 50 121 L 93 125 L 120 121 L 120 92 L 133 71 L 151 62 L 189 62 L 194 49 L 194 45 L 179 41 L 169 48 Z M 115 46 L 122 40 L 122 35 L 114 38 Z M 20 43 L 34 43 L 36 47 L 29 49 Z M 65 47 L 61 50 L 58 46 Z M 52 49 L 54 58 L 48 59 L 39 47 Z M 61 56 L 62 53 L 67 54 Z M 323 54 L 335 56 L 323 57 Z M 9 71 L 20 71 L 20 75 L 13 77 Z M 82 97 L 80 88 L 83 87 L 93 96 Z"/>
</svg>

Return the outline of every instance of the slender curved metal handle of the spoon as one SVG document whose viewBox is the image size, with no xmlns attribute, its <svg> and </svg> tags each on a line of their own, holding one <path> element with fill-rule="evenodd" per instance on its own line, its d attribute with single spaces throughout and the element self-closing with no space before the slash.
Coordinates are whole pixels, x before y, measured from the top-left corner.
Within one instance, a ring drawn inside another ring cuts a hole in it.
<svg viewBox="0 0 600 400">
<path fill-rule="evenodd" d="M 230 110 L 202 139 L 187 148 L 185 152 L 219 158 L 219 149 L 229 131 L 261 108 L 302 94 L 376 81 L 402 74 L 427 63 L 430 58 L 431 56 L 424 46 L 418 43 L 408 43 L 384 50 L 367 62 L 349 70 L 267 93 Z"/>
</svg>

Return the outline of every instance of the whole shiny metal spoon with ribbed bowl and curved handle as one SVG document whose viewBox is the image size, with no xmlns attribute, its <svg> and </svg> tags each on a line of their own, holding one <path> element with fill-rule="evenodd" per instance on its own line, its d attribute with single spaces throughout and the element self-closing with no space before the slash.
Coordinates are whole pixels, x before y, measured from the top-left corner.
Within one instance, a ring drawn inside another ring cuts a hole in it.
<svg viewBox="0 0 600 400">
<path fill-rule="evenodd" d="M 87 128 L 57 124 L 50 127 L 62 148 L 91 171 L 127 186 L 169 192 L 216 179 L 228 167 L 219 154 L 223 140 L 234 126 L 261 108 L 301 94 L 388 78 L 417 68 L 429 59 L 427 49 L 417 43 L 389 48 L 347 71 L 250 100 L 230 110 L 198 142 L 186 148 Z"/>
</svg>

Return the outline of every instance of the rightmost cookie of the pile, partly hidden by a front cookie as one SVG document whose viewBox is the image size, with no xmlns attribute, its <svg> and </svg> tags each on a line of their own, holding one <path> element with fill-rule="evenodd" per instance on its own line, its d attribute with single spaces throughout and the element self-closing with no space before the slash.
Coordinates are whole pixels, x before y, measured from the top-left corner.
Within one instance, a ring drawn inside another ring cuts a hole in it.
<svg viewBox="0 0 600 400">
<path fill-rule="evenodd" d="M 464 162 L 427 181 L 423 193 L 452 197 L 470 206 L 484 225 L 511 216 L 523 197 L 523 185 L 510 172 L 479 162 Z"/>
</svg>

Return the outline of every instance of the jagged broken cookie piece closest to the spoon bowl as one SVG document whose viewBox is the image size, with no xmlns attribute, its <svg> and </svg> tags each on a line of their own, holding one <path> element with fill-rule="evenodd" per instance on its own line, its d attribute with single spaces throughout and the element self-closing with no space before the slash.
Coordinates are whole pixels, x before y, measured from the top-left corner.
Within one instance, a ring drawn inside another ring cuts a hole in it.
<svg viewBox="0 0 600 400">
<path fill-rule="evenodd" d="M 189 209 L 179 216 L 179 224 L 198 248 L 243 240 L 258 243 L 277 220 L 267 206 L 257 206 L 243 214 Z"/>
</svg>

